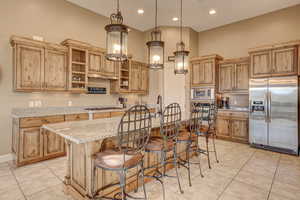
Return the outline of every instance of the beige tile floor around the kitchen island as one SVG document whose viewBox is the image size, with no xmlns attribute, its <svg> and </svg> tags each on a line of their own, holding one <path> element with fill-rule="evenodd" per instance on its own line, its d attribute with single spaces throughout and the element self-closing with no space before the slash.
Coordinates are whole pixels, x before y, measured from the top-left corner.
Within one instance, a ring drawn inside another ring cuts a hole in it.
<svg viewBox="0 0 300 200">
<path fill-rule="evenodd" d="M 202 157 L 204 178 L 200 177 L 198 166 L 192 166 L 192 187 L 188 186 L 187 171 L 179 169 L 184 194 L 179 194 L 176 179 L 165 178 L 166 199 L 300 199 L 299 157 L 221 140 L 217 140 L 217 149 L 220 163 L 214 161 L 211 170 Z M 66 158 L 58 158 L 18 169 L 12 168 L 11 163 L 0 163 L 0 200 L 72 200 L 62 191 L 65 162 Z M 157 182 L 147 184 L 148 199 L 162 199 L 160 191 Z"/>
</svg>

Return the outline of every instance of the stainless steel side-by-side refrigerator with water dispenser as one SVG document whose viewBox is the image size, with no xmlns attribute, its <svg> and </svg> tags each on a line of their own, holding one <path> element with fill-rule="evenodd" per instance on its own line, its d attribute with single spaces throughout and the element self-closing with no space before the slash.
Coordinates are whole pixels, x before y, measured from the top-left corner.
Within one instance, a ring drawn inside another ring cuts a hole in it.
<svg viewBox="0 0 300 200">
<path fill-rule="evenodd" d="M 298 154 L 298 77 L 251 79 L 250 144 Z"/>
</svg>

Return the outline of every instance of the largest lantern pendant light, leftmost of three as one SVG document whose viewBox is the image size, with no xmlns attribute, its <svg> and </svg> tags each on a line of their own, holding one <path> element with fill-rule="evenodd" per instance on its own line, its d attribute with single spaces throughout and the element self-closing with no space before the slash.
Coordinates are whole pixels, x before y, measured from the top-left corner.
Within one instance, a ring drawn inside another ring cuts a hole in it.
<svg viewBox="0 0 300 200">
<path fill-rule="evenodd" d="M 106 30 L 106 59 L 122 62 L 127 60 L 128 28 L 123 24 L 119 0 L 117 0 L 117 12 L 110 15 L 110 24 Z"/>
</svg>

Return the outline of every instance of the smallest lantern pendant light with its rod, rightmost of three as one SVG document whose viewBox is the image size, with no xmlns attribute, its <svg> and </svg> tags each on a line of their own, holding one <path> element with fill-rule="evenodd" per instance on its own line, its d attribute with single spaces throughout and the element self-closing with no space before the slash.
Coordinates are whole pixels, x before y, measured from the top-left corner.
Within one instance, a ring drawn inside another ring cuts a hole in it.
<svg viewBox="0 0 300 200">
<path fill-rule="evenodd" d="M 180 0 L 180 42 L 176 44 L 175 56 L 175 74 L 188 73 L 189 51 L 185 50 L 185 44 L 182 41 L 182 0 Z"/>
</svg>

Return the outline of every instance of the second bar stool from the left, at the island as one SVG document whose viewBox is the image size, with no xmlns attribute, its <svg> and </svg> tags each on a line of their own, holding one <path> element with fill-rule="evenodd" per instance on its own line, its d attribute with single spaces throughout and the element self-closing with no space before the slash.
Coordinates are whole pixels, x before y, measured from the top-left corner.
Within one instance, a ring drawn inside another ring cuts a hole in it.
<svg viewBox="0 0 300 200">
<path fill-rule="evenodd" d="M 179 191 L 183 193 L 178 176 L 178 159 L 177 159 L 177 136 L 181 126 L 181 109 L 178 103 L 168 105 L 161 115 L 160 136 L 151 137 L 149 143 L 146 145 L 145 151 L 149 153 L 156 153 L 161 160 L 155 166 L 149 166 L 147 169 L 155 169 L 152 176 L 146 176 L 159 181 L 163 189 L 163 199 L 165 199 L 164 177 L 177 178 Z M 167 160 L 167 153 L 173 152 L 173 161 Z M 174 165 L 176 176 L 169 176 L 166 174 L 167 164 Z"/>
</svg>

